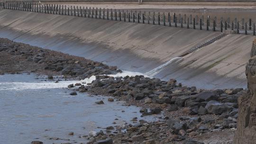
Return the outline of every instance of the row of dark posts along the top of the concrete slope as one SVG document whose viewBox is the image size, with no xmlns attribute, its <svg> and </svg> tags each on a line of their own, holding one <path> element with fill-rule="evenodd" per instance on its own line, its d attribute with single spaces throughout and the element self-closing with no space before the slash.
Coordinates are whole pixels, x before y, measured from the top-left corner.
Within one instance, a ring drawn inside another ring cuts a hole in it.
<svg viewBox="0 0 256 144">
<path fill-rule="evenodd" d="M 70 15 L 71 16 L 76 16 L 76 13 L 77 13 L 77 16 L 78 17 L 88 17 L 88 18 L 98 18 L 98 8 L 96 9 L 88 9 L 86 7 L 86 9 L 83 9 L 80 7 L 80 9 L 78 9 L 78 6 L 71 6 L 70 8 L 66 7 L 65 6 L 61 6 L 61 5 L 55 5 L 55 4 L 45 4 L 45 5 L 41 5 L 38 3 L 27 3 L 27 2 L 23 2 L 23 3 L 19 3 L 19 2 L 15 2 L 15 3 L 4 3 L 4 2 L 1 2 L 0 3 L 0 6 L 3 7 L 4 9 L 14 9 L 14 10 L 23 10 L 23 11 L 33 11 L 33 12 L 39 12 L 39 13 L 48 13 L 48 14 L 59 14 L 59 15 Z M 99 18 L 101 18 L 101 8 L 99 9 L 100 12 L 99 12 Z M 67 13 L 66 13 L 67 12 Z M 131 22 L 130 21 L 130 15 L 131 13 L 128 13 L 128 22 Z M 115 17 L 115 20 L 117 21 L 118 20 L 118 16 L 117 16 L 117 11 L 114 10 L 114 17 Z M 124 21 L 126 22 L 126 12 L 123 13 L 123 18 L 124 18 Z M 103 9 L 103 16 L 102 16 L 102 19 L 105 19 L 105 9 Z M 107 20 L 113 20 L 113 10 L 110 9 L 110 18 L 109 18 L 109 9 L 107 9 Z M 135 23 L 135 19 L 136 19 L 136 13 L 132 13 L 132 22 Z M 142 23 L 145 24 L 145 14 L 142 14 L 142 18 L 141 18 L 141 15 L 140 13 L 137 14 L 137 23 L 140 23 L 140 19 L 142 19 Z M 187 22 L 184 21 L 184 23 L 187 23 L 187 28 L 190 28 L 190 19 L 191 18 L 187 18 Z M 166 26 L 166 21 L 165 21 L 165 14 L 163 15 L 163 25 Z M 121 12 L 119 10 L 119 21 L 122 21 L 122 18 L 121 18 Z M 174 21 L 174 27 L 177 27 L 177 16 L 173 15 L 173 21 Z M 202 18 L 200 18 L 200 27 L 199 29 L 202 30 L 202 25 L 203 25 L 203 22 L 202 22 Z M 169 27 L 171 27 L 171 15 L 170 13 L 168 13 L 168 22 L 169 22 Z M 150 24 L 150 18 L 149 18 L 149 15 L 148 15 L 148 18 L 147 18 L 147 24 Z M 154 12 L 154 15 L 153 15 L 153 22 L 152 22 L 153 25 L 155 25 L 155 12 Z M 183 27 L 183 18 L 180 18 L 180 27 Z M 193 29 L 196 29 L 196 18 L 193 18 Z M 160 22 L 160 15 L 158 14 L 158 25 L 161 25 L 161 22 Z M 206 30 L 210 30 L 209 29 L 210 27 L 210 19 L 207 18 L 207 23 L 206 23 Z M 227 21 L 225 21 L 225 26 L 224 26 L 224 29 L 227 30 L 228 29 L 228 23 Z M 255 35 L 255 24 L 253 24 L 253 35 Z M 236 24 L 236 28 L 237 28 L 237 33 L 239 34 L 239 22 L 237 22 Z M 251 19 L 249 19 L 249 29 L 251 30 Z M 216 21 L 213 20 L 213 28 L 212 28 L 213 31 L 216 31 Z M 232 24 L 231 24 L 231 30 L 234 30 L 234 22 L 232 21 Z M 221 20 L 220 21 L 220 32 L 223 32 L 223 21 Z M 245 34 L 247 35 L 247 23 L 245 24 Z"/>
</svg>

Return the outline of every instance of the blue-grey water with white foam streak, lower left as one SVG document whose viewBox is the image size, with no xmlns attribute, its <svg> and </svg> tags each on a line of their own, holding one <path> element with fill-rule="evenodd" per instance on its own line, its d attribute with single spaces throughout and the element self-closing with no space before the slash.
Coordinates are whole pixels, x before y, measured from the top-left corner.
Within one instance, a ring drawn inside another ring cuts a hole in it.
<svg viewBox="0 0 256 144">
<path fill-rule="evenodd" d="M 85 143 L 86 139 L 79 136 L 115 126 L 113 122 L 120 126 L 132 123 L 133 117 L 142 119 L 140 108 L 124 106 L 121 101 L 108 102 L 108 97 L 79 92 L 69 95 L 67 85 L 81 81 L 55 81 L 34 74 L 0 75 L 0 144 L 30 144 L 34 140 L 44 144 Z M 99 100 L 105 104 L 95 104 Z M 155 117 L 143 119 L 151 121 Z"/>
</svg>

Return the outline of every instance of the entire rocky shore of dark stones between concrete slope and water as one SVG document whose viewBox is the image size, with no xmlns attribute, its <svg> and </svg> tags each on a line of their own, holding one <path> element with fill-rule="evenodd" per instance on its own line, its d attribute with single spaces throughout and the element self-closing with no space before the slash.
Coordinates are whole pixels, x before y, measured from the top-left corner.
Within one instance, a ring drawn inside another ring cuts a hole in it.
<svg viewBox="0 0 256 144">
<path fill-rule="evenodd" d="M 67 79 L 84 79 L 95 75 L 96 80 L 91 83 L 70 84 L 68 88 L 73 90 L 71 94 L 88 92 L 113 96 L 126 101 L 127 105 L 142 107 L 141 117 L 155 115 L 160 119 L 147 122 L 134 117 L 131 124 L 125 126 L 106 126 L 104 132 L 81 136 L 89 140 L 88 144 L 203 144 L 203 140 L 197 136 L 215 132 L 232 135 L 237 127 L 238 97 L 245 93 L 243 89 L 199 90 L 183 86 L 174 79 L 162 81 L 142 75 L 111 77 L 108 75 L 121 71 L 82 57 L 8 39 L 0 39 L 0 42 L 2 74 L 36 72 L 47 74 L 50 79 L 58 74 Z M 101 101 L 97 103 L 104 104 Z M 219 142 L 231 144 L 232 139 Z"/>
</svg>

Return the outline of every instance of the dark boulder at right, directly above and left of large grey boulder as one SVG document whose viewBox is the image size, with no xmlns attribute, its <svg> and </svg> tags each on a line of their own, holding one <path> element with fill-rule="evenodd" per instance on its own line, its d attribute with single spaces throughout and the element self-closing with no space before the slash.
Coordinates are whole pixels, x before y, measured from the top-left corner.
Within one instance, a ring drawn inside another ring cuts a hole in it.
<svg viewBox="0 0 256 144">
<path fill-rule="evenodd" d="M 202 101 L 217 100 L 219 96 L 217 96 L 216 91 L 203 91 L 199 93 L 197 96 L 195 96 L 195 98 L 198 102 L 202 102 Z"/>
</svg>

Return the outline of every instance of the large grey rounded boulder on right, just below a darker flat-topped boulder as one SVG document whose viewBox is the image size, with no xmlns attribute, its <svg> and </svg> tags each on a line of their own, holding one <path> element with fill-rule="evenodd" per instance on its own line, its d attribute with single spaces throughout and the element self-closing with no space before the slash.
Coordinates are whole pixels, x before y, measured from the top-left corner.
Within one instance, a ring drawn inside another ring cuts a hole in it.
<svg viewBox="0 0 256 144">
<path fill-rule="evenodd" d="M 219 103 L 215 100 L 210 100 L 207 105 L 205 106 L 207 112 L 209 114 L 222 114 L 222 113 L 229 113 L 233 108 L 225 105 L 223 103 Z"/>
</svg>

